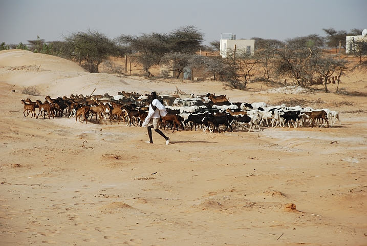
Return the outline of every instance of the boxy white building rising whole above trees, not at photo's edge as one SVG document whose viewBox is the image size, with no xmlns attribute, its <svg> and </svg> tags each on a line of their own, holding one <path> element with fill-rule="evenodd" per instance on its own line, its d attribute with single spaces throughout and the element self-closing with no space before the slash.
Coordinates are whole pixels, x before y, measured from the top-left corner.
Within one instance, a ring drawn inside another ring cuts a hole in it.
<svg viewBox="0 0 367 246">
<path fill-rule="evenodd" d="M 225 33 L 224 33 L 225 34 Z M 227 33 L 228 34 L 228 33 Z M 255 40 L 254 39 L 236 39 L 236 35 L 230 34 L 229 39 L 222 39 L 221 34 L 221 55 L 223 58 L 227 56 L 228 51 L 234 51 L 234 46 L 236 46 L 236 53 L 248 53 L 253 54 L 255 49 Z"/>
</svg>

